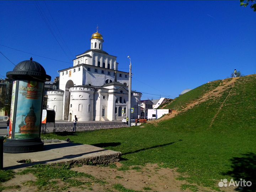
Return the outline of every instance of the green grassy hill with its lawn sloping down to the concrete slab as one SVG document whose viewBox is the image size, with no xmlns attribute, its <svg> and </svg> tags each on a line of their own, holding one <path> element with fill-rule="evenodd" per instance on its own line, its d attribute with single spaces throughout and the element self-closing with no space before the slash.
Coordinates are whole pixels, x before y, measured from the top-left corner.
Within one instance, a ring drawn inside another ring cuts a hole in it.
<svg viewBox="0 0 256 192">
<path fill-rule="evenodd" d="M 215 190 L 220 190 L 223 178 L 256 183 L 255 92 L 256 75 L 213 81 L 165 106 L 178 111 L 173 118 L 69 138 L 121 151 L 127 167 L 146 163 L 177 167 L 187 181 Z M 243 191 L 256 191 L 256 186 Z"/>
</svg>

